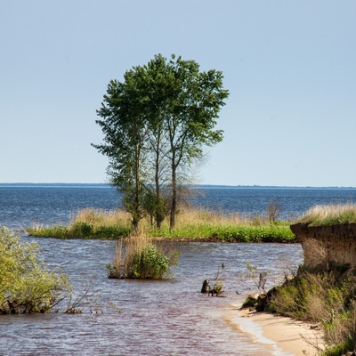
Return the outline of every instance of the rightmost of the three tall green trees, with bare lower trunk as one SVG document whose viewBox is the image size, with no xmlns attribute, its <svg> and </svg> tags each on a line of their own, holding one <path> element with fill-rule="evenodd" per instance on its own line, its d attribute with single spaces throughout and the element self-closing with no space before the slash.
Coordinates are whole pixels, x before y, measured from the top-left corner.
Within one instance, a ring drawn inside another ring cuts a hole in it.
<svg viewBox="0 0 356 356">
<path fill-rule="evenodd" d="M 174 228 L 177 209 L 178 174 L 203 157 L 203 147 L 223 140 L 223 131 L 214 130 L 215 119 L 229 92 L 223 89 L 223 74 L 209 70 L 199 72 L 196 61 L 176 61 L 168 66 L 173 73 L 173 90 L 166 110 L 166 134 L 171 166 L 170 228 Z"/>
</svg>

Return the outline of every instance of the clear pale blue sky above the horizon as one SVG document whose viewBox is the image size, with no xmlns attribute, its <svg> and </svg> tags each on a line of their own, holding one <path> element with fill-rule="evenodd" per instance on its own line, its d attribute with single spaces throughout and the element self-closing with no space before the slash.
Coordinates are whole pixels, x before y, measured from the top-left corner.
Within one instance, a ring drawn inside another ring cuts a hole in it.
<svg viewBox="0 0 356 356">
<path fill-rule="evenodd" d="M 172 53 L 222 70 L 198 183 L 356 186 L 356 1 L 0 0 L 0 182 L 106 182 L 110 79 Z"/>
</svg>

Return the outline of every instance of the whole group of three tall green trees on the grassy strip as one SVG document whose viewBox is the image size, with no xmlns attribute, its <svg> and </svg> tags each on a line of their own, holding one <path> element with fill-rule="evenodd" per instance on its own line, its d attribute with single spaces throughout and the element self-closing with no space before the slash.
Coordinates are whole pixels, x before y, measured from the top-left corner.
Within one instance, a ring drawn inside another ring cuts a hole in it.
<svg viewBox="0 0 356 356">
<path fill-rule="evenodd" d="M 109 83 L 96 121 L 104 143 L 93 146 L 109 157 L 110 182 L 124 193 L 134 227 L 145 210 L 158 228 L 169 214 L 174 228 L 180 177 L 206 145 L 223 140 L 214 126 L 228 95 L 222 72 L 200 72 L 174 55 L 158 54 L 127 71 L 124 83 Z"/>
</svg>

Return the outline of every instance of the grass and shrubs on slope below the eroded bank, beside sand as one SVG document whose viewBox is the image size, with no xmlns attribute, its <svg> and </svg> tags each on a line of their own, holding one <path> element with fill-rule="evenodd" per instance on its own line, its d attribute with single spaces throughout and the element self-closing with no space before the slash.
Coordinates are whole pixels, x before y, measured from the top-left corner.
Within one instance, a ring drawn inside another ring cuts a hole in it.
<svg viewBox="0 0 356 356">
<path fill-rule="evenodd" d="M 356 276 L 351 272 L 307 271 L 274 289 L 267 305 L 297 320 L 320 325 L 326 349 L 323 356 L 338 356 L 356 348 Z"/>
</svg>

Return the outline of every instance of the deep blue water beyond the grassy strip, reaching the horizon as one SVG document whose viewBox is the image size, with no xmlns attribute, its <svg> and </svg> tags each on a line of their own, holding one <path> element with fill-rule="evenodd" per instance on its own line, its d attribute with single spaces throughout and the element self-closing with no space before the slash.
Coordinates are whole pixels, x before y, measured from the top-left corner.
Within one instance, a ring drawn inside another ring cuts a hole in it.
<svg viewBox="0 0 356 356">
<path fill-rule="evenodd" d="M 317 204 L 356 203 L 356 189 L 204 187 L 194 189 L 193 206 L 224 213 L 265 214 L 271 201 L 280 219 L 296 218 Z M 0 184 L 0 223 L 15 230 L 34 223 L 68 223 L 85 207 L 121 206 L 117 190 L 105 184 Z"/>
</svg>

